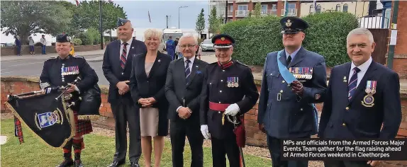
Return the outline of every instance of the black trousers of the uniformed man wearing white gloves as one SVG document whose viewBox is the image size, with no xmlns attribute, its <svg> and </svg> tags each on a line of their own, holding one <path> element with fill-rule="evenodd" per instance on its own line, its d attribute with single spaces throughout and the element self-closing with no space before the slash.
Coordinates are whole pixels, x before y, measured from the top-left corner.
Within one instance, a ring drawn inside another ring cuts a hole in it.
<svg viewBox="0 0 407 167">
<path fill-rule="evenodd" d="M 240 151 L 233 131 L 225 134 L 225 138 L 212 137 L 213 167 L 226 167 L 225 154 L 228 155 L 230 167 L 240 167 Z"/>
</svg>

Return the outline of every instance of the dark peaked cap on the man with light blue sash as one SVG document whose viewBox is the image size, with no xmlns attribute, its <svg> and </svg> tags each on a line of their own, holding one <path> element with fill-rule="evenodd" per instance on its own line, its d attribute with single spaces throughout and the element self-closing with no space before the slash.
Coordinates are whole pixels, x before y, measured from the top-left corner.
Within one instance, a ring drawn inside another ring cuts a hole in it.
<svg viewBox="0 0 407 167">
<path fill-rule="evenodd" d="M 301 18 L 297 17 L 284 17 L 280 20 L 281 27 L 283 30 L 281 33 L 284 34 L 295 34 L 299 33 L 300 31 L 306 30 L 309 27 L 306 21 L 303 21 Z"/>
</svg>

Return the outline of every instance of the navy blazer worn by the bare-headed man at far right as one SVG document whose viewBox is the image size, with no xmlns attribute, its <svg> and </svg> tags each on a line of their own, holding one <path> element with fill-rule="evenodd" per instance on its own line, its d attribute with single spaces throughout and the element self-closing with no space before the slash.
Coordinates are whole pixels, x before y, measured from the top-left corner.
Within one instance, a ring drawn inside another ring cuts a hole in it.
<svg viewBox="0 0 407 167">
<path fill-rule="evenodd" d="M 347 100 L 350 67 L 351 63 L 346 63 L 331 70 L 318 136 L 342 139 L 396 137 L 401 123 L 398 74 L 372 62 L 357 86 L 354 97 Z M 367 95 L 364 91 L 367 81 L 377 81 L 377 93 L 373 95 L 372 106 L 363 103 Z"/>
</svg>

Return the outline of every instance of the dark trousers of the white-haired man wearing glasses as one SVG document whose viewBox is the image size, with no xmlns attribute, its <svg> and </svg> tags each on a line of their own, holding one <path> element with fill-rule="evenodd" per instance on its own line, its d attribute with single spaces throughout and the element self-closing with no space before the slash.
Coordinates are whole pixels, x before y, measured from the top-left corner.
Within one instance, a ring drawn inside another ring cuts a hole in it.
<svg viewBox="0 0 407 167">
<path fill-rule="evenodd" d="M 171 137 L 172 147 L 172 166 L 184 166 L 184 146 L 185 136 L 188 137 L 189 146 L 191 146 L 191 167 L 204 166 L 204 137 L 201 134 L 199 120 L 177 120 L 169 124 L 169 135 Z"/>
</svg>

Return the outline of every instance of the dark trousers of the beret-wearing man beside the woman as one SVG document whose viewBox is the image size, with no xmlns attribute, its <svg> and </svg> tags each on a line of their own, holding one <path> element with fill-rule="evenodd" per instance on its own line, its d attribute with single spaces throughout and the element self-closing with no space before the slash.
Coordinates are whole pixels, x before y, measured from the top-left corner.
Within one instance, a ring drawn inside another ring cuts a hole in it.
<svg viewBox="0 0 407 167">
<path fill-rule="evenodd" d="M 130 134 L 128 157 L 130 162 L 138 162 L 141 156 L 140 113 L 130 99 L 119 99 L 111 103 L 116 121 L 116 153 L 114 161 L 126 161 L 127 125 Z"/>
</svg>

